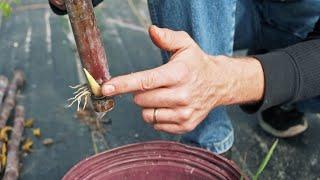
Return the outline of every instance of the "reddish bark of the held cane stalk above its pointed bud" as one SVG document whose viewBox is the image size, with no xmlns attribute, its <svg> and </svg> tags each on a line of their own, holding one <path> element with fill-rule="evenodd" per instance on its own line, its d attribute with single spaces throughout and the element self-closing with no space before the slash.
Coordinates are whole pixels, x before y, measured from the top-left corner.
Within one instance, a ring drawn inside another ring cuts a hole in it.
<svg viewBox="0 0 320 180">
<path fill-rule="evenodd" d="M 66 0 L 65 4 L 82 65 L 99 84 L 102 84 L 111 76 L 92 2 Z"/>
</svg>

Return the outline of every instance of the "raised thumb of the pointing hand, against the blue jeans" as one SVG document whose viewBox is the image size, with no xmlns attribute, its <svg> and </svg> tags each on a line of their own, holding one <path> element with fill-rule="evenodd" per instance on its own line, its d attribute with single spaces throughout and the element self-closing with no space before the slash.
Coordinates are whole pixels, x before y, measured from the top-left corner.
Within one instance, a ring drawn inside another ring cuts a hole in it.
<svg viewBox="0 0 320 180">
<path fill-rule="evenodd" d="M 153 43 L 160 49 L 175 52 L 191 46 L 194 41 L 185 31 L 173 31 L 166 28 L 150 26 L 149 34 Z"/>
</svg>

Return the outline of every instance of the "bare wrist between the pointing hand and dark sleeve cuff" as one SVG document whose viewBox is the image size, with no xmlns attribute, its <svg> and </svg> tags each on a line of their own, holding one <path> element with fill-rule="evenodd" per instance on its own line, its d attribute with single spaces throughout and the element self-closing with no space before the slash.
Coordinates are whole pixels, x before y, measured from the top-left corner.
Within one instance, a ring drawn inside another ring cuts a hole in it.
<svg viewBox="0 0 320 180">
<path fill-rule="evenodd" d="M 260 62 L 253 57 L 216 56 L 227 76 L 228 92 L 221 104 L 246 104 L 258 102 L 264 95 L 264 74 Z"/>
</svg>

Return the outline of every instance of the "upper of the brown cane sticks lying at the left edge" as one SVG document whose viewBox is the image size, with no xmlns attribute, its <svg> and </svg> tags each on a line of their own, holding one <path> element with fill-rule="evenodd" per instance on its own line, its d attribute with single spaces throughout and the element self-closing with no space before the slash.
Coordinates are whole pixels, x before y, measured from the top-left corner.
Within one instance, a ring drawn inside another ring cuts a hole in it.
<svg viewBox="0 0 320 180">
<path fill-rule="evenodd" d="M 7 124 L 7 120 L 10 116 L 12 109 L 16 104 L 16 93 L 17 89 L 23 85 L 24 82 L 24 74 L 21 70 L 14 71 L 13 79 L 9 85 L 8 92 L 6 98 L 4 99 L 3 108 L 0 113 L 0 129 L 4 128 Z M 0 147 L 2 148 L 3 141 L 0 141 Z M 4 158 L 4 157 L 2 157 Z M 2 170 L 2 164 L 0 164 L 0 170 Z"/>
</svg>

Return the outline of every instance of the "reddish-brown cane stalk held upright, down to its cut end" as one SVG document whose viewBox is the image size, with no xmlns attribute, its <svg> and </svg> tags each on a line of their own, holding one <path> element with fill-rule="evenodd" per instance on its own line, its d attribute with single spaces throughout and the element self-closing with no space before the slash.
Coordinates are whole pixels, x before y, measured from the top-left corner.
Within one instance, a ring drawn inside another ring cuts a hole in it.
<svg viewBox="0 0 320 180">
<path fill-rule="evenodd" d="M 111 97 L 102 96 L 101 85 L 110 80 L 111 76 L 92 1 L 65 0 L 65 5 L 82 66 L 88 72 L 86 77 L 91 90 L 93 107 L 96 112 L 109 111 L 113 108 L 114 101 Z M 93 79 L 88 79 L 88 74 Z M 92 86 L 93 84 L 98 86 Z"/>
</svg>

